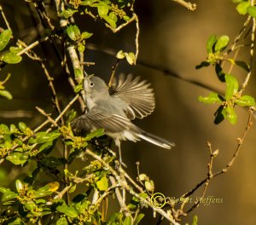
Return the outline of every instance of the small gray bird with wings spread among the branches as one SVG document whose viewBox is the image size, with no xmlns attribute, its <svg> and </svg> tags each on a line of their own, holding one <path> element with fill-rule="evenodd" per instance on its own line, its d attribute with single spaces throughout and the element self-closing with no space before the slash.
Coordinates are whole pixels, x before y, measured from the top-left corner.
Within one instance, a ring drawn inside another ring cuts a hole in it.
<svg viewBox="0 0 256 225">
<path fill-rule="evenodd" d="M 120 141 L 145 141 L 159 147 L 171 149 L 171 141 L 154 136 L 132 124 L 134 118 L 144 118 L 154 111 L 153 89 L 147 81 L 129 74 L 120 75 L 112 92 L 108 85 L 96 76 L 84 77 L 84 100 L 87 112 L 73 121 L 78 130 L 93 131 L 100 128 L 115 141 L 120 149 Z"/>
</svg>

